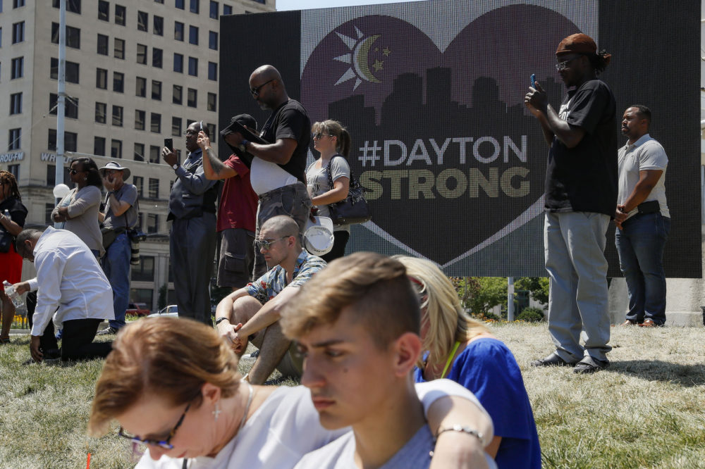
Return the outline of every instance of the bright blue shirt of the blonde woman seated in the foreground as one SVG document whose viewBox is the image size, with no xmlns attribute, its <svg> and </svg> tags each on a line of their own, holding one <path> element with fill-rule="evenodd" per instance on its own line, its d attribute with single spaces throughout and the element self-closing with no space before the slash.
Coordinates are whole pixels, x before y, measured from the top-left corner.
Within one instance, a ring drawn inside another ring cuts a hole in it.
<svg viewBox="0 0 705 469">
<path fill-rule="evenodd" d="M 418 368 L 414 376 L 416 382 L 426 381 Z M 529 396 L 519 365 L 503 342 L 489 337 L 470 342 L 446 378 L 469 389 L 492 418 L 495 436 L 502 437 L 495 458 L 498 468 L 541 468 Z"/>
</svg>

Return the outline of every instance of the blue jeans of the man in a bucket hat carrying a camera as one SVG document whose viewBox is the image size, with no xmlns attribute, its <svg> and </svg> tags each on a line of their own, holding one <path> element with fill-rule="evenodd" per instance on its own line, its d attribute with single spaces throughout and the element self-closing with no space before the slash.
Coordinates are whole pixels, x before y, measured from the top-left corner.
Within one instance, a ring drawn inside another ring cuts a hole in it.
<svg viewBox="0 0 705 469">
<path fill-rule="evenodd" d="M 113 287 L 113 312 L 115 319 L 109 322 L 110 327 L 120 329 L 125 325 L 125 310 L 130 301 L 130 238 L 123 232 L 115 238 L 113 244 L 103 256 L 101 265 L 105 276 Z"/>
</svg>

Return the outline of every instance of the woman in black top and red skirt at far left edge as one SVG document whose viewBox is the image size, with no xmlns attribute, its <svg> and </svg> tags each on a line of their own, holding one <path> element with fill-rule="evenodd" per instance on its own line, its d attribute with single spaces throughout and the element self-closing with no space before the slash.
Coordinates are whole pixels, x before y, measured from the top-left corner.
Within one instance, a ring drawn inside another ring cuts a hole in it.
<svg viewBox="0 0 705 469">
<path fill-rule="evenodd" d="M 7 211 L 9 216 L 5 215 Z M 0 282 L 16 284 L 22 277 L 22 256 L 15 251 L 15 237 L 25 225 L 27 208 L 22 204 L 20 189 L 12 173 L 0 171 Z M 10 327 L 15 318 L 15 305 L 0 288 L 2 332 L 0 345 L 10 343 Z"/>
</svg>

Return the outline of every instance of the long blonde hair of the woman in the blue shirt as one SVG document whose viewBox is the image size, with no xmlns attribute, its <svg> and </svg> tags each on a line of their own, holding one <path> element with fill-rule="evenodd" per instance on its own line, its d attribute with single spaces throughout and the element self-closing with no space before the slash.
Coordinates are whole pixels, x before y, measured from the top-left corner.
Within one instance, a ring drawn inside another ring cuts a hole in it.
<svg viewBox="0 0 705 469">
<path fill-rule="evenodd" d="M 422 337 L 422 346 L 429 351 L 429 363 L 446 361 L 455 342 L 466 342 L 476 335 L 489 332 L 482 323 L 465 312 L 453 284 L 436 264 L 410 256 L 394 258 L 403 263 L 422 299 L 422 315 L 429 322 L 426 337 Z"/>
</svg>

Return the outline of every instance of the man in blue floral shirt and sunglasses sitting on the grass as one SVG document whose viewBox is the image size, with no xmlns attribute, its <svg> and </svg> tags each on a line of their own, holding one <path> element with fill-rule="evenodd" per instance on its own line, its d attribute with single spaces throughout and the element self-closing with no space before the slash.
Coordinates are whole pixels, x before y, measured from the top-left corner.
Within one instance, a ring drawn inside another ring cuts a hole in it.
<svg viewBox="0 0 705 469">
<path fill-rule="evenodd" d="M 216 309 L 216 327 L 233 344 L 236 354 L 242 356 L 248 340 L 259 349 L 257 361 L 246 377 L 252 384 L 263 384 L 274 368 L 284 376 L 300 377 L 301 360 L 291 341 L 282 334 L 278 320 L 286 302 L 326 266 L 326 261 L 302 249 L 299 227 L 287 215 L 266 220 L 255 245 L 267 265 L 274 267 L 223 298 Z"/>
</svg>

